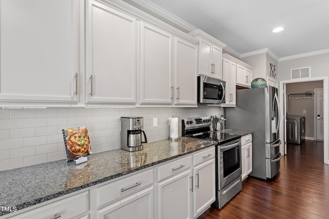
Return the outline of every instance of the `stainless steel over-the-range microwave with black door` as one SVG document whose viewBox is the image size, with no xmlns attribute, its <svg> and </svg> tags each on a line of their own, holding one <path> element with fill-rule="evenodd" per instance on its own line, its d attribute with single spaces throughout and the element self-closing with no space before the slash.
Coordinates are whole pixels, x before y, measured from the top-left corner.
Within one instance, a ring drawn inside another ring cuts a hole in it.
<svg viewBox="0 0 329 219">
<path fill-rule="evenodd" d="M 225 81 L 207 76 L 197 77 L 198 104 L 225 103 Z"/>
</svg>

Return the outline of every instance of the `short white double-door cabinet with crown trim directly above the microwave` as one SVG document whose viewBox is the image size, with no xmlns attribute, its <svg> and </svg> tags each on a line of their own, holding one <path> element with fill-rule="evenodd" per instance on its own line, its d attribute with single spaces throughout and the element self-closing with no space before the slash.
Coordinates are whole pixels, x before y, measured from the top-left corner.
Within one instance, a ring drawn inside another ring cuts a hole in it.
<svg viewBox="0 0 329 219">
<path fill-rule="evenodd" d="M 226 45 L 202 30 L 189 34 L 199 40 L 198 75 L 222 79 L 222 49 Z"/>
</svg>

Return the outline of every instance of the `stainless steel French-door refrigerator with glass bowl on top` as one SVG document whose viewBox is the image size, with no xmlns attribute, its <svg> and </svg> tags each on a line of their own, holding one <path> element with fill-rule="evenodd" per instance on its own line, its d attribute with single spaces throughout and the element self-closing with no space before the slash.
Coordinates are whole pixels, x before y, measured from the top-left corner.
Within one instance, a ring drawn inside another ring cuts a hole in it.
<svg viewBox="0 0 329 219">
<path fill-rule="evenodd" d="M 236 90 L 236 107 L 226 108 L 226 128 L 253 131 L 250 176 L 270 179 L 279 172 L 279 122 L 277 88 Z"/>
</svg>

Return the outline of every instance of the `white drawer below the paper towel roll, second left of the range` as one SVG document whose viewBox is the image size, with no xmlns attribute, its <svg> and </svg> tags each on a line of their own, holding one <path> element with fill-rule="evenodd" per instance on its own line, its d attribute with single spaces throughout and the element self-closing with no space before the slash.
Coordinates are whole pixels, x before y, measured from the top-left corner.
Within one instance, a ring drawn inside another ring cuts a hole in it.
<svg viewBox="0 0 329 219">
<path fill-rule="evenodd" d="M 187 156 L 158 167 L 158 182 L 182 170 L 190 169 L 191 159 L 191 156 Z"/>
</svg>

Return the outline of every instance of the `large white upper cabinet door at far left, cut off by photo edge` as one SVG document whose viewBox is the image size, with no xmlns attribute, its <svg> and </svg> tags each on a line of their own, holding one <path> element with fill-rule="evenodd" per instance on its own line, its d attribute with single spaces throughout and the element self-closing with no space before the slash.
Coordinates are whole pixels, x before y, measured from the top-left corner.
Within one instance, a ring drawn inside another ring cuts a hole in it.
<svg viewBox="0 0 329 219">
<path fill-rule="evenodd" d="M 78 101 L 78 4 L 0 1 L 2 102 Z"/>
</svg>

